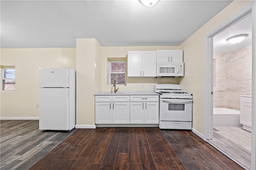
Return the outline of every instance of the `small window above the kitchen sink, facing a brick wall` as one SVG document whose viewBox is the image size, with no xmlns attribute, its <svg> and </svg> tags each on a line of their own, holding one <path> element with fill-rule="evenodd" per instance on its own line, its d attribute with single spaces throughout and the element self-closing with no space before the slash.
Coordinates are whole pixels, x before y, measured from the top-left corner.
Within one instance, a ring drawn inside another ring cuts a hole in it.
<svg viewBox="0 0 256 170">
<path fill-rule="evenodd" d="M 125 62 L 124 61 L 110 61 L 110 84 L 125 84 Z"/>
</svg>

